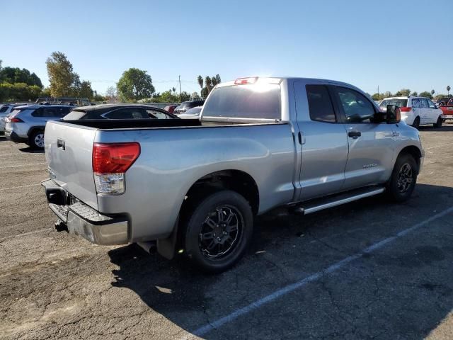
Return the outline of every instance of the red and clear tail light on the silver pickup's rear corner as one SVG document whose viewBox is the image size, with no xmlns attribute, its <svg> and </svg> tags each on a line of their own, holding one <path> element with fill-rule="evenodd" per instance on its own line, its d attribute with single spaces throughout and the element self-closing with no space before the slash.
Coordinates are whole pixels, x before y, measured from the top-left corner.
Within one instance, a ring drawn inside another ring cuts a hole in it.
<svg viewBox="0 0 453 340">
<path fill-rule="evenodd" d="M 98 193 L 118 195 L 125 192 L 125 172 L 140 155 L 140 145 L 94 143 L 93 175 Z"/>
</svg>

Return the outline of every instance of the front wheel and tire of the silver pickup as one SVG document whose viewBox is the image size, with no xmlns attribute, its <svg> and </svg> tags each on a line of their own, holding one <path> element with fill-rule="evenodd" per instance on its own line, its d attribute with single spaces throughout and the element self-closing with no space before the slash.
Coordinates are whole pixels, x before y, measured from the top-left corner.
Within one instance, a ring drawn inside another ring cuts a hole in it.
<svg viewBox="0 0 453 340">
<path fill-rule="evenodd" d="M 396 202 L 411 197 L 417 183 L 418 166 L 411 154 L 401 154 L 396 159 L 394 170 L 387 184 L 388 195 Z"/>
</svg>

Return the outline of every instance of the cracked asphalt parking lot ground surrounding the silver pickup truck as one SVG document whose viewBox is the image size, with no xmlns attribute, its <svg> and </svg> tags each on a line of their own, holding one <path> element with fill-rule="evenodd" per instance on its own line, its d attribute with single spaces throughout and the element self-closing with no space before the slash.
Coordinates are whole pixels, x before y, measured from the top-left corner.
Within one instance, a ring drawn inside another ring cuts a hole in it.
<svg viewBox="0 0 453 340">
<path fill-rule="evenodd" d="M 55 232 L 42 152 L 0 137 L 0 339 L 453 339 L 453 124 L 413 198 L 256 220 L 217 276 Z"/>
</svg>

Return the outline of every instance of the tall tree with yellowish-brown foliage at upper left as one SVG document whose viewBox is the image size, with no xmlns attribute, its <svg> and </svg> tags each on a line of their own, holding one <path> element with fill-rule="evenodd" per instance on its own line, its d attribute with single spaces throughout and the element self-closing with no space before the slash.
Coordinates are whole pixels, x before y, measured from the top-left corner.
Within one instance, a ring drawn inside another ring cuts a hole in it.
<svg viewBox="0 0 453 340">
<path fill-rule="evenodd" d="M 63 52 L 52 52 L 47 58 L 50 94 L 55 97 L 70 96 L 74 93 L 74 84 L 79 76 L 74 72 L 71 62 Z"/>
</svg>

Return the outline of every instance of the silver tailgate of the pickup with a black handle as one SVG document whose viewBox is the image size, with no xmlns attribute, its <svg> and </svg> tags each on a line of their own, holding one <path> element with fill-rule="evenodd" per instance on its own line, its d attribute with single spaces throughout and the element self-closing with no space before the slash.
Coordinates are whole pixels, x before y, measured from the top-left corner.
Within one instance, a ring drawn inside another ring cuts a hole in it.
<svg viewBox="0 0 453 340">
<path fill-rule="evenodd" d="M 45 158 L 50 178 L 91 208 L 98 208 L 91 154 L 95 128 L 50 121 L 45 128 Z"/>
</svg>

